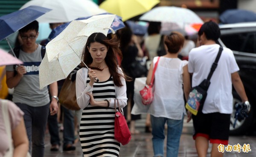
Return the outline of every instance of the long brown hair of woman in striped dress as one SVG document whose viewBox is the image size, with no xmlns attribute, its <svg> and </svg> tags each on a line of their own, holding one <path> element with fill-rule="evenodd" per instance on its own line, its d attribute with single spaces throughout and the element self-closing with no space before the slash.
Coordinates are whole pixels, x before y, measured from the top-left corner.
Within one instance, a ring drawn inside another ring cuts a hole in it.
<svg viewBox="0 0 256 157">
<path fill-rule="evenodd" d="M 87 65 L 90 65 L 93 62 L 93 58 L 90 55 L 90 52 L 87 48 L 87 46 L 90 48 L 90 44 L 92 42 L 99 42 L 99 43 L 107 46 L 108 52 L 105 57 L 105 62 L 108 65 L 108 69 L 109 69 L 111 76 L 113 77 L 114 84 L 118 87 L 123 86 L 120 77 L 124 77 L 126 80 L 127 76 L 125 75 L 125 73 L 124 73 L 124 76 L 122 76 L 122 74 L 118 73 L 118 68 L 117 68 L 118 66 L 117 66 L 117 62 L 116 62 L 116 53 L 118 53 L 122 59 L 122 53 L 121 53 L 121 50 L 119 49 L 118 39 L 116 39 L 116 37 L 113 37 L 112 39 L 108 39 L 107 36 L 105 36 L 102 33 L 91 34 L 87 39 L 86 45 L 84 46 L 84 52 L 82 55 L 82 60 Z M 90 67 L 90 68 L 102 70 L 102 69 L 99 69 L 99 67 Z"/>
</svg>

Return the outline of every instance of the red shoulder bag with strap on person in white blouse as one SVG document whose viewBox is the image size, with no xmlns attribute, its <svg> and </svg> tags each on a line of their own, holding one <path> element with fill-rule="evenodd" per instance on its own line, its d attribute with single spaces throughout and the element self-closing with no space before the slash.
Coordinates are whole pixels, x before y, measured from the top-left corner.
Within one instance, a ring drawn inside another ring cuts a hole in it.
<svg viewBox="0 0 256 157">
<path fill-rule="evenodd" d="M 154 66 L 154 70 L 153 70 L 153 73 L 152 73 L 150 84 L 148 84 L 148 85 L 146 84 L 145 87 L 142 90 L 140 90 L 142 103 L 144 105 L 149 105 L 153 101 L 153 96 L 154 95 L 153 95 L 152 87 L 153 87 L 153 84 L 154 84 L 154 73 L 156 72 L 157 64 L 159 62 L 159 59 L 160 59 L 160 57 L 158 57 L 157 62 Z"/>
</svg>

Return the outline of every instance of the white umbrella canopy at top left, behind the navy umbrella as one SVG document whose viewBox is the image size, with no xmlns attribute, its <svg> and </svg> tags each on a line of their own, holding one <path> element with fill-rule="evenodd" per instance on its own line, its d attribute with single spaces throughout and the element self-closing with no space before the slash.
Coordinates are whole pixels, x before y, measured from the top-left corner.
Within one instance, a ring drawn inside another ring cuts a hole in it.
<svg viewBox="0 0 256 157">
<path fill-rule="evenodd" d="M 88 17 L 106 12 L 91 0 L 30 0 L 20 9 L 31 5 L 52 9 L 51 12 L 37 19 L 38 22 L 47 23 L 70 22 L 79 17 Z"/>
</svg>

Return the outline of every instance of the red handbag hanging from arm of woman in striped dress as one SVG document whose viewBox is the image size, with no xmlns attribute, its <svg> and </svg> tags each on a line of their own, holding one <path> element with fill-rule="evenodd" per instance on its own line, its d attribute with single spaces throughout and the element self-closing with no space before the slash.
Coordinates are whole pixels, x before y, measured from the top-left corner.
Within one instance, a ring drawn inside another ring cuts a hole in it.
<svg viewBox="0 0 256 157">
<path fill-rule="evenodd" d="M 117 105 L 118 105 L 118 111 L 116 110 L 116 101 L 117 101 Z M 122 143 L 122 145 L 124 146 L 124 145 L 128 144 L 129 141 L 131 140 L 131 132 L 126 123 L 124 113 L 120 109 L 118 99 L 115 99 L 114 104 L 115 104 L 115 112 L 116 112 L 115 130 L 114 130 L 115 131 L 115 133 L 114 133 L 115 139 L 118 142 Z"/>
</svg>

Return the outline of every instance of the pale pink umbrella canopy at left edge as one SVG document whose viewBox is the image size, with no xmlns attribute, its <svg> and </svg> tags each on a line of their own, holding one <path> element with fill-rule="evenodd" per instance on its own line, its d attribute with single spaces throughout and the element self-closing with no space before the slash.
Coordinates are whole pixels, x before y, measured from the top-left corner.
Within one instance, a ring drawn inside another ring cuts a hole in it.
<svg viewBox="0 0 256 157">
<path fill-rule="evenodd" d="M 15 65 L 15 64 L 23 64 L 22 61 L 15 58 L 14 56 L 7 53 L 5 50 L 0 49 L 0 66 L 3 65 Z"/>
</svg>

